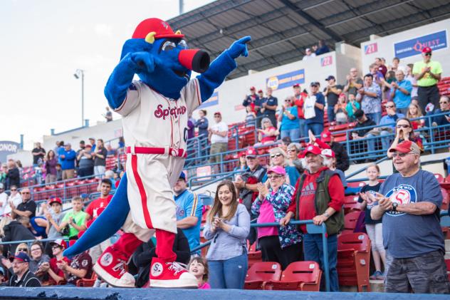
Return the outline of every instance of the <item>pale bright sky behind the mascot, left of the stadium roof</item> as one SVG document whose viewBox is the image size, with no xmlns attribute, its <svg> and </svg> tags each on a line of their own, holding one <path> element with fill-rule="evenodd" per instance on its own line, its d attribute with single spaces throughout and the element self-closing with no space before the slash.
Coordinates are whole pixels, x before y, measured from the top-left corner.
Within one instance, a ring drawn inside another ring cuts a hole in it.
<svg viewBox="0 0 450 300">
<path fill-rule="evenodd" d="M 184 0 L 184 11 L 211 0 Z M 1 0 L 0 140 L 25 149 L 49 135 L 81 125 L 85 70 L 85 119 L 105 120 L 103 88 L 120 58 L 122 43 L 143 19 L 170 19 L 178 0 Z M 114 114 L 114 118 L 119 116 Z"/>
</svg>

